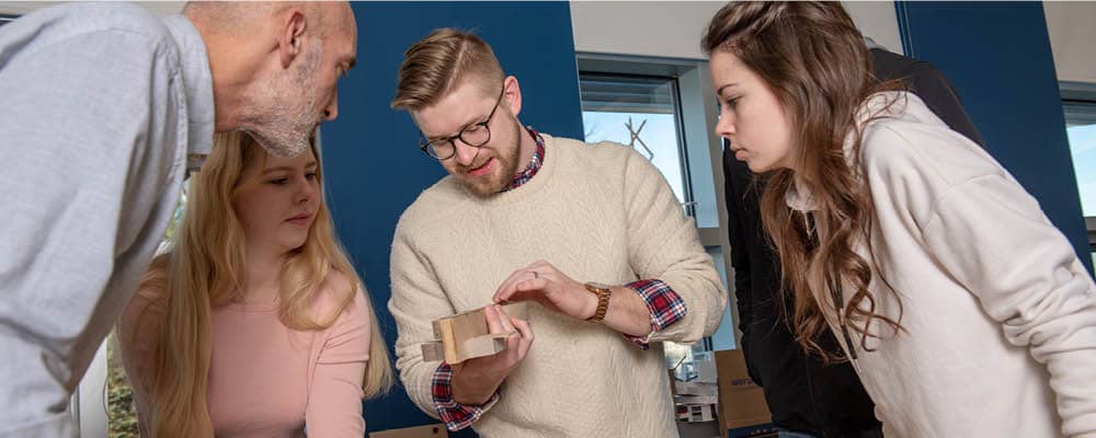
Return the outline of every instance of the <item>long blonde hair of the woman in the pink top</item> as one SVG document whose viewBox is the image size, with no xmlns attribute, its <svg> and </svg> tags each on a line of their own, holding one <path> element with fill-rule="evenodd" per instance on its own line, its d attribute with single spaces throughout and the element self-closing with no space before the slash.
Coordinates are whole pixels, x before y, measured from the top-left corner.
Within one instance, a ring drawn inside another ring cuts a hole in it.
<svg viewBox="0 0 1096 438">
<path fill-rule="evenodd" d="M 312 146 L 316 154 L 316 147 Z M 319 157 L 317 154 L 317 157 Z M 157 256 L 141 279 L 140 290 L 164 299 L 163 320 L 152 346 L 147 379 L 150 397 L 148 424 L 157 437 L 213 437 L 206 404 L 212 339 L 212 309 L 226 304 L 244 290 L 244 234 L 232 199 L 244 183 L 243 171 L 262 165 L 266 152 L 248 135 L 218 134 L 202 171 L 192 176 L 190 199 L 172 249 Z M 321 169 L 317 181 L 322 184 Z M 322 185 L 321 185 L 322 189 Z M 320 201 L 305 244 L 284 262 L 278 295 L 278 319 L 298 330 L 330 326 L 352 304 L 355 293 L 368 303 L 373 336 L 363 390 L 366 397 L 392 384 L 391 361 L 365 287 L 334 237 L 331 216 Z M 313 319 L 311 303 L 332 272 L 350 279 L 330 318 Z"/>
</svg>

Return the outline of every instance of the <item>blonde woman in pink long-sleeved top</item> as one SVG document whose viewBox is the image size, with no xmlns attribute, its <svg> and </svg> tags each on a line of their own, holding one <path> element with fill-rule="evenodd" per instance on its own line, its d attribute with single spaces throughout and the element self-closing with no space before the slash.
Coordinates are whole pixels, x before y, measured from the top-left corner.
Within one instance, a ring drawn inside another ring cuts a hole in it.
<svg viewBox="0 0 1096 438">
<path fill-rule="evenodd" d="M 216 141 L 119 323 L 141 435 L 362 437 L 361 401 L 391 366 L 315 147 L 282 159 L 243 134 Z"/>
</svg>

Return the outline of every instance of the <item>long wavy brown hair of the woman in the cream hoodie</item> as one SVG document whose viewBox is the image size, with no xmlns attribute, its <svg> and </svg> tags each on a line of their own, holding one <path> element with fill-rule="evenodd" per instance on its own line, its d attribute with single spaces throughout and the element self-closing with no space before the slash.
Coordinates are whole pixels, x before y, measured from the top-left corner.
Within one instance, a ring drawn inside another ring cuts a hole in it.
<svg viewBox="0 0 1096 438">
<path fill-rule="evenodd" d="M 796 339 L 826 361 L 845 359 L 818 343 L 827 330 L 820 307 L 826 303 L 853 357 L 849 327 L 860 347 L 871 350 L 867 339 L 877 335 L 867 328 L 879 321 L 901 331 L 902 310 L 899 300 L 897 321 L 876 313 L 868 289 L 875 265 L 872 204 L 867 182 L 858 176 L 863 132 L 857 116 L 871 94 L 899 83 L 880 83 L 872 76 L 864 37 L 837 2 L 735 1 L 711 19 L 701 44 L 708 54 L 726 50 L 741 59 L 789 116 L 791 165 L 764 175 L 761 216 L 780 257 L 781 297 L 790 292 L 795 300 Z M 846 138 L 852 153 L 845 151 Z M 813 196 L 819 210 L 804 214 L 787 206 L 786 194 L 797 185 Z M 861 243 L 872 261 L 856 253 Z M 842 307 L 846 289 L 852 298 Z"/>
</svg>

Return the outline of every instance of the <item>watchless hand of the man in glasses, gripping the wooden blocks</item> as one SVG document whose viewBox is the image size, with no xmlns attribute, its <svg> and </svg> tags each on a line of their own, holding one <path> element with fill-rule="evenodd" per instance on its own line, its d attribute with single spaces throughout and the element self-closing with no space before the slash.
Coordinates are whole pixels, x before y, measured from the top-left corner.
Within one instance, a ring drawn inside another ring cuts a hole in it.
<svg viewBox="0 0 1096 438">
<path fill-rule="evenodd" d="M 528 322 L 506 315 L 498 304 L 484 308 L 483 315 L 492 334 L 515 328 L 517 333 L 506 338 L 506 349 L 453 366 L 453 379 L 449 381 L 453 400 L 463 405 L 478 406 L 487 403 L 502 381 L 525 359 L 533 345 L 533 330 Z"/>
</svg>

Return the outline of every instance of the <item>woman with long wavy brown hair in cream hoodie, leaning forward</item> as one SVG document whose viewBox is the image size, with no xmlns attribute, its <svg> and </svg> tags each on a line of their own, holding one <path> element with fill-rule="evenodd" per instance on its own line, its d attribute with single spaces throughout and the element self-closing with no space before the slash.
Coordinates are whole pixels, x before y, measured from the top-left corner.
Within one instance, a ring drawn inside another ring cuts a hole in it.
<svg viewBox="0 0 1096 438">
<path fill-rule="evenodd" d="M 1092 277 L 992 157 L 871 77 L 840 3 L 734 2 L 703 45 L 797 339 L 852 360 L 886 436 L 1096 434 Z"/>
</svg>

